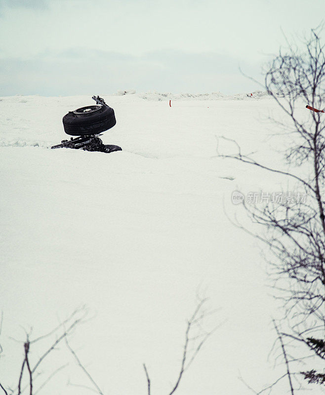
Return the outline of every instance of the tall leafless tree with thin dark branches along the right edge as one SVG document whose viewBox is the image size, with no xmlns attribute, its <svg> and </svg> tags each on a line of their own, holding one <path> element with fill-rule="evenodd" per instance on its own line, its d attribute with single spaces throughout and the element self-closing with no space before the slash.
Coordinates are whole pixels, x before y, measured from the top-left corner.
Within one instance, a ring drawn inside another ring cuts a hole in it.
<svg viewBox="0 0 325 395">
<path fill-rule="evenodd" d="M 280 50 L 265 75 L 266 90 L 286 117 L 286 121 L 277 120 L 275 124 L 292 137 L 293 144 L 284 148 L 290 170 L 256 161 L 251 154 L 243 154 L 237 142 L 234 142 L 237 154 L 218 154 L 286 176 L 294 182 L 296 191 L 307 195 L 307 201 L 285 200 L 261 205 L 244 202 L 251 221 L 264 232 L 253 234 L 237 225 L 266 243 L 273 254 L 269 264 L 276 278 L 277 297 L 282 292 L 288 321 L 288 330 L 278 335 L 286 344 L 291 341 L 304 344 L 305 350 L 324 360 L 325 351 L 318 346 L 325 339 L 325 115 L 306 110 L 306 117 L 301 117 L 297 112 L 297 108 L 305 105 L 319 110 L 325 106 L 321 31 L 322 27 L 312 30 L 310 37 L 303 40 L 302 50 L 288 43 L 288 48 Z"/>
</svg>

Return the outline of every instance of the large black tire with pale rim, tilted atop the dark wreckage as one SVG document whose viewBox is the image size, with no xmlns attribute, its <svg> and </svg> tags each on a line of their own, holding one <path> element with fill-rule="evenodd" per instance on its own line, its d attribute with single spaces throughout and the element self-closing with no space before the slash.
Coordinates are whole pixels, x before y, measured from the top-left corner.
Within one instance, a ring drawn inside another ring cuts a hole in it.
<svg viewBox="0 0 325 395">
<path fill-rule="evenodd" d="M 114 110 L 111 107 L 99 105 L 69 111 L 62 121 L 64 131 L 71 136 L 101 133 L 116 124 Z"/>
</svg>

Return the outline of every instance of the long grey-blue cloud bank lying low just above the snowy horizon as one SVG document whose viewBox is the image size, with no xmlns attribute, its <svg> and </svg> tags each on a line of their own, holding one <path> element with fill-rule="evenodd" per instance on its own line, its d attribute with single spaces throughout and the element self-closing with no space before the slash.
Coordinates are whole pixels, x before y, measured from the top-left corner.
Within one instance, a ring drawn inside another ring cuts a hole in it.
<svg viewBox="0 0 325 395">
<path fill-rule="evenodd" d="M 257 88 L 239 71 L 239 59 L 214 53 L 155 51 L 142 56 L 73 48 L 29 59 L 1 59 L 3 95 L 75 95 L 137 91 L 239 93 Z M 259 77 L 259 67 L 242 62 Z"/>
</svg>

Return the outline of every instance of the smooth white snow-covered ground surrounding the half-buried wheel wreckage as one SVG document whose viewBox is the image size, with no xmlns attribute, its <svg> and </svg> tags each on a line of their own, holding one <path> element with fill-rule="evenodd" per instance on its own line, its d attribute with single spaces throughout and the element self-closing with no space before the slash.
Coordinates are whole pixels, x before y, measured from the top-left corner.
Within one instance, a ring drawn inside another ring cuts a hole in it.
<svg viewBox="0 0 325 395">
<path fill-rule="evenodd" d="M 90 96 L 0 98 L 2 384 L 17 385 L 23 358 L 9 337 L 24 340 L 33 327 L 36 338 L 86 305 L 91 319 L 71 344 L 105 394 L 146 394 L 144 362 L 152 394 L 168 394 L 198 289 L 221 308 L 207 326 L 223 324 L 177 394 L 246 395 L 238 376 L 258 390 L 284 373 L 267 361 L 279 313 L 265 264 L 256 240 L 228 217 L 242 211 L 233 191 L 286 185 L 216 152 L 223 135 L 281 165 L 267 120 L 279 110 L 258 94 L 190 96 L 103 96 L 117 124 L 102 139 L 123 149 L 109 155 L 46 148 L 67 138 L 62 117 Z M 35 347 L 32 361 L 45 345 Z M 67 362 L 40 394 L 89 393 L 69 385 L 90 383 L 63 343 L 35 388 Z"/>
</svg>

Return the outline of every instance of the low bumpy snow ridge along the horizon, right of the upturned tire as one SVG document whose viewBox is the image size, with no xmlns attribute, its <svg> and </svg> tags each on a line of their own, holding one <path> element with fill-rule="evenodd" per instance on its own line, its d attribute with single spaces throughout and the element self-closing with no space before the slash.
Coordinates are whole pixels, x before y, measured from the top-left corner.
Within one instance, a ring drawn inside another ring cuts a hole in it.
<svg viewBox="0 0 325 395">
<path fill-rule="evenodd" d="M 147 92 L 138 93 L 138 97 L 150 101 L 163 100 L 252 100 L 268 96 L 267 92 L 255 90 L 248 93 L 237 93 L 235 95 L 225 95 L 221 92 L 212 93 L 159 93 Z"/>
</svg>

